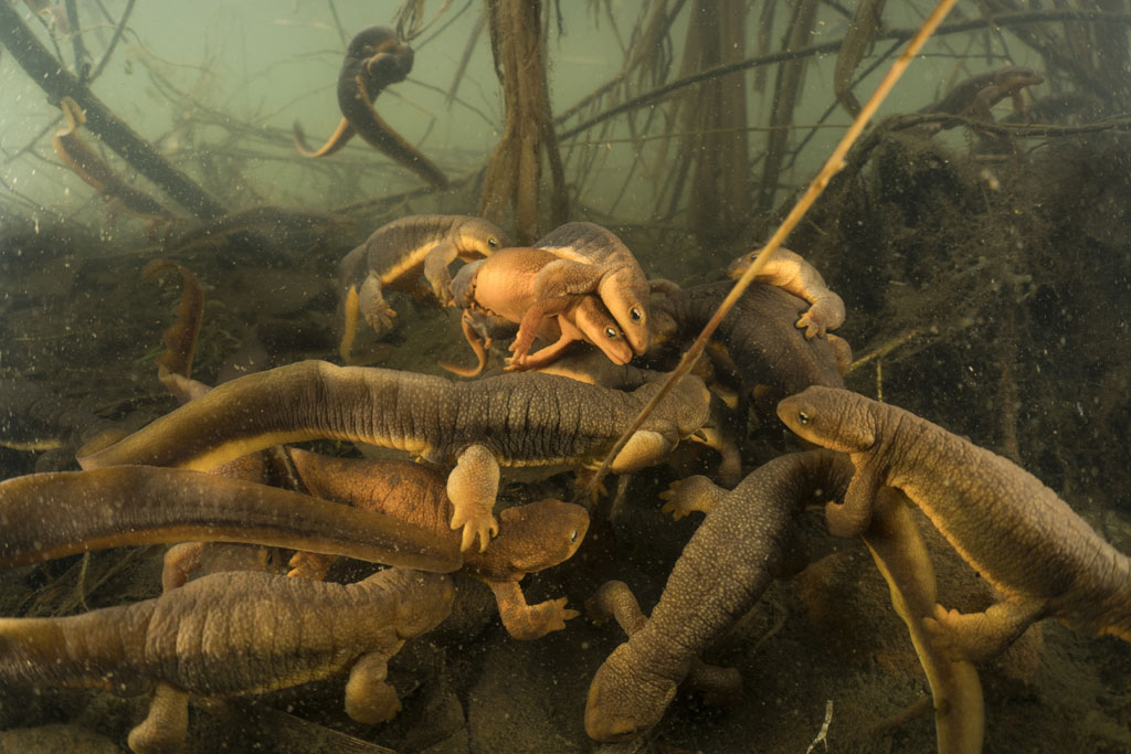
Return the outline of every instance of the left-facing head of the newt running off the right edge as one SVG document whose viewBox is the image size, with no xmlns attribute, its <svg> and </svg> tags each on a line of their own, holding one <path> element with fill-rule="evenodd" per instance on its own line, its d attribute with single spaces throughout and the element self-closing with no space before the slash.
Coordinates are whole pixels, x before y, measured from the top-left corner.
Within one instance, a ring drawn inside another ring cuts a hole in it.
<svg viewBox="0 0 1131 754">
<path fill-rule="evenodd" d="M 812 385 L 778 404 L 778 418 L 812 443 L 858 453 L 875 444 L 869 400 L 849 390 Z"/>
</svg>

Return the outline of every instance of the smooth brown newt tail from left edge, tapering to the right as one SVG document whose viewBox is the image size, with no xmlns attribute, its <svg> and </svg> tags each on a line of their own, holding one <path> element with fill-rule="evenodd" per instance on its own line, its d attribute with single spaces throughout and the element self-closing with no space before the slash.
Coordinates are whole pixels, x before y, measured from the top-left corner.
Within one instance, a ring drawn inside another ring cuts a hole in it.
<svg viewBox="0 0 1131 754">
<path fill-rule="evenodd" d="M 0 567 L 185 539 L 307 549 L 428 571 L 455 571 L 463 563 L 450 543 L 392 517 L 244 479 L 149 466 L 0 482 Z"/>
</svg>

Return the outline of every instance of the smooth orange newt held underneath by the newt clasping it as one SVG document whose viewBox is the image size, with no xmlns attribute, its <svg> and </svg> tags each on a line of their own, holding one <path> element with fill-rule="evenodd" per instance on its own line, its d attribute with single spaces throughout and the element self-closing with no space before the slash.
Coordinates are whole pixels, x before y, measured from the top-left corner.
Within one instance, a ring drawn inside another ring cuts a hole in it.
<svg viewBox="0 0 1131 754">
<path fill-rule="evenodd" d="M 535 329 L 523 331 L 526 313 L 536 302 L 536 281 L 547 265 L 559 260 L 544 249 L 515 246 L 465 265 L 451 283 L 456 305 L 464 310 L 464 335 L 476 355 L 486 347 L 473 317 L 482 311 L 519 326 L 508 370 L 539 369 L 552 363 L 569 344 L 584 340 L 599 348 L 614 364 L 628 364 L 632 348 L 616 321 L 595 295 L 572 296 L 553 315 L 539 317 Z M 529 355 L 535 336 L 552 345 Z M 478 343 L 476 343 L 478 340 Z M 483 358 L 480 358 L 481 369 Z"/>
</svg>

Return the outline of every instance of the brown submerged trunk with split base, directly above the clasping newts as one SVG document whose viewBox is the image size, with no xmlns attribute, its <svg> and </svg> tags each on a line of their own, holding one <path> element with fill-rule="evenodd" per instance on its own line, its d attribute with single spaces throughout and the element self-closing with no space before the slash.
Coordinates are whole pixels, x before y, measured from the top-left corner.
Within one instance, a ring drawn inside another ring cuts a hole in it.
<svg viewBox="0 0 1131 754">
<path fill-rule="evenodd" d="M 487 166 L 480 214 L 501 223 L 508 205 L 513 205 L 519 243 L 530 243 L 568 216 L 541 18 L 539 0 L 487 0 L 491 50 L 503 87 L 507 123 Z M 542 190 L 543 153 L 550 164 L 549 191 Z"/>
</svg>

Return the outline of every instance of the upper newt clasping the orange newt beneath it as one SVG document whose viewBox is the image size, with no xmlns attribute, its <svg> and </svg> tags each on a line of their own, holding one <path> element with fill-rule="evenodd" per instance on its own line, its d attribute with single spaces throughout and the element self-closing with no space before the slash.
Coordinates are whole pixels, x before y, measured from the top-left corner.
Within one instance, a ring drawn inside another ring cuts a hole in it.
<svg viewBox="0 0 1131 754">
<path fill-rule="evenodd" d="M 593 223 L 567 223 L 534 243 L 558 257 L 534 279 L 534 304 L 526 310 L 518 340 L 532 343 L 544 317 L 575 296 L 596 294 L 616 320 L 632 353 L 644 355 L 651 337 L 651 286 L 640 263 L 616 235 Z"/>
</svg>

